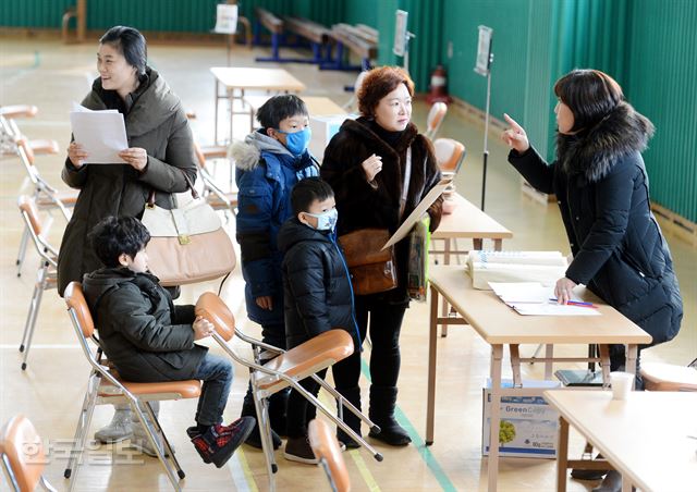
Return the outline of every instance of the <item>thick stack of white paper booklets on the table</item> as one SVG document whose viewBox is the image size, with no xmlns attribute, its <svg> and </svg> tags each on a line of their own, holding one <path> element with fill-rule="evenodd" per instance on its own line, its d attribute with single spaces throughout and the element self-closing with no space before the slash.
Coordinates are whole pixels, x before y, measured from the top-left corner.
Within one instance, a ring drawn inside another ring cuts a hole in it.
<svg viewBox="0 0 697 492">
<path fill-rule="evenodd" d="M 559 251 L 470 251 L 467 265 L 473 286 L 480 290 L 488 290 L 489 282 L 553 285 L 566 271 Z"/>
</svg>

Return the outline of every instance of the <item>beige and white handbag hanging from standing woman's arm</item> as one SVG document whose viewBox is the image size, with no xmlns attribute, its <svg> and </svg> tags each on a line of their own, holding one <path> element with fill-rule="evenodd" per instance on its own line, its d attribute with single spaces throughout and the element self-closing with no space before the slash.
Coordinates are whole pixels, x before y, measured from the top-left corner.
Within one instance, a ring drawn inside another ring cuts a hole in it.
<svg viewBox="0 0 697 492">
<path fill-rule="evenodd" d="M 198 197 L 188 176 L 184 177 L 193 199 L 167 210 L 155 205 L 152 192 L 140 220 L 150 232 L 148 268 L 163 286 L 218 279 L 236 265 L 232 241 L 220 217 Z"/>
</svg>

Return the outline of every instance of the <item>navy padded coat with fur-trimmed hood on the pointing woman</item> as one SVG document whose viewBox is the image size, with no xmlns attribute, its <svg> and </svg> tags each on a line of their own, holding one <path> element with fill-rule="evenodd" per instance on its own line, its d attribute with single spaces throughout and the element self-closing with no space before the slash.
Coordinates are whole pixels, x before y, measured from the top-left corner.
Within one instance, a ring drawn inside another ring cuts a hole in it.
<svg viewBox="0 0 697 492">
<path fill-rule="evenodd" d="M 589 131 L 558 136 L 548 165 L 530 147 L 509 161 L 542 193 L 559 199 L 574 256 L 566 278 L 587 285 L 641 327 L 652 345 L 680 330 L 683 304 L 665 238 L 650 210 L 640 151 L 651 123 L 621 102 Z"/>
</svg>

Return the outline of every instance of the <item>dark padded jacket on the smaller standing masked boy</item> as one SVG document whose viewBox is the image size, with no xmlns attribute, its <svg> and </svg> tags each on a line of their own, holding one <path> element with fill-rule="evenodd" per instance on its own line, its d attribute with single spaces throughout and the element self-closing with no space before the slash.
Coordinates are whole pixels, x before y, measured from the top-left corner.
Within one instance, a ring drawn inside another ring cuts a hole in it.
<svg viewBox="0 0 697 492">
<path fill-rule="evenodd" d="M 333 233 L 289 219 L 279 232 L 283 258 L 285 340 L 293 348 L 320 333 L 343 328 L 360 347 L 348 269 Z M 359 348 L 358 348 L 359 349 Z"/>
</svg>

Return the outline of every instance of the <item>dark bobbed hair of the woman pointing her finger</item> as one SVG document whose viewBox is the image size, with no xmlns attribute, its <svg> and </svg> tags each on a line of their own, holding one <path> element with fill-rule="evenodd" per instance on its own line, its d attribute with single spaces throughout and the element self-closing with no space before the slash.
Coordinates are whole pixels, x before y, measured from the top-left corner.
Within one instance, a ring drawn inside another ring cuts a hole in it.
<svg viewBox="0 0 697 492">
<path fill-rule="evenodd" d="M 557 81 L 554 94 L 574 114 L 574 132 L 595 125 L 624 100 L 620 84 L 599 70 L 572 70 Z"/>
</svg>

